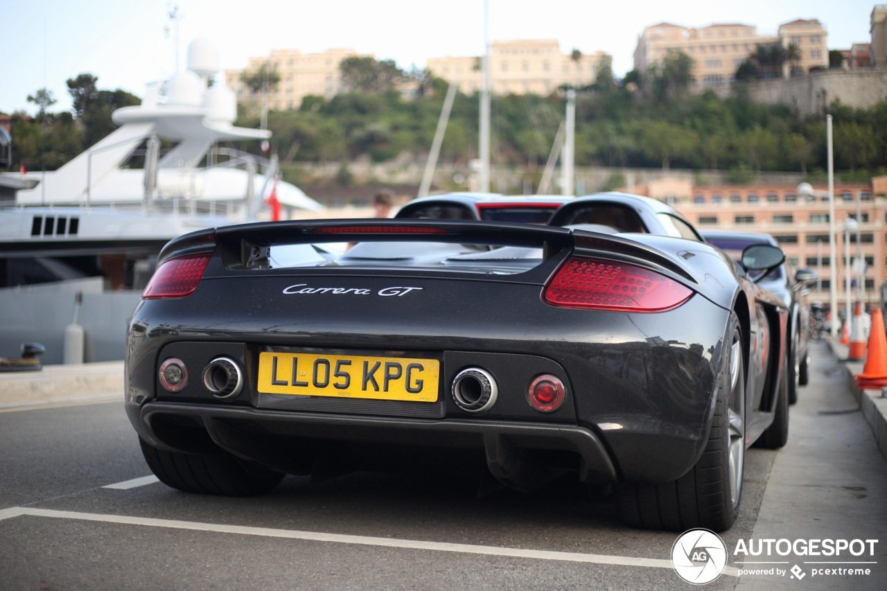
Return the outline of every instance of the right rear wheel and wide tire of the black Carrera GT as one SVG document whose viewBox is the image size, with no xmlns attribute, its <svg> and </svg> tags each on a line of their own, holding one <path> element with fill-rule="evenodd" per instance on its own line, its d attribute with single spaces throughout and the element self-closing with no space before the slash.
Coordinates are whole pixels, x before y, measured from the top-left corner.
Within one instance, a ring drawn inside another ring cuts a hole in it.
<svg viewBox="0 0 887 591">
<path fill-rule="evenodd" d="M 686 532 L 729 529 L 739 514 L 745 465 L 745 363 L 735 312 L 708 442 L 693 469 L 662 485 L 618 485 L 616 509 L 626 524 Z"/>
</svg>

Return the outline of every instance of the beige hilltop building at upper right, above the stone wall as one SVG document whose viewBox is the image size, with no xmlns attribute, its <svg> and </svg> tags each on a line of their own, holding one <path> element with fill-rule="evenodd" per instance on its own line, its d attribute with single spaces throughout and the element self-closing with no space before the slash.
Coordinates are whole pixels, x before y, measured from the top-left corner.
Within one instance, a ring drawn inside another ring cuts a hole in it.
<svg viewBox="0 0 887 591">
<path fill-rule="evenodd" d="M 794 20 L 780 26 L 779 34 L 758 35 L 757 28 L 742 24 L 714 24 L 685 28 L 660 23 L 644 29 L 634 50 L 634 69 L 643 76 L 674 51 L 694 61 L 691 85 L 719 88 L 733 82 L 736 69 L 756 51 L 758 44 L 794 43 L 799 49 L 797 62 L 787 63 L 783 75 L 807 73 L 828 67 L 828 33 L 819 20 Z"/>
</svg>

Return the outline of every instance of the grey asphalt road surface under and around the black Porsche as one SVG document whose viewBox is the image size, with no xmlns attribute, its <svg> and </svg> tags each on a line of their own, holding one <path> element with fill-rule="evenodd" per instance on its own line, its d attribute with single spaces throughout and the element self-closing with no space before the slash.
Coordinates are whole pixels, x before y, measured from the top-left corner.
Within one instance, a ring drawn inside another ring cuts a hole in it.
<svg viewBox="0 0 887 591">
<path fill-rule="evenodd" d="M 813 353 L 789 445 L 747 454 L 742 516 L 721 534 L 726 571 L 703 588 L 884 588 L 887 463 L 844 369 L 824 344 Z M 626 528 L 574 485 L 478 497 L 467 472 L 361 473 L 287 477 L 252 499 L 179 493 L 143 478 L 122 403 L 0 413 L 0 445 L 4 590 L 695 588 L 671 566 L 676 534 Z M 734 554 L 814 539 L 877 542 L 871 556 Z M 813 571 L 848 568 L 870 573 Z"/>
</svg>

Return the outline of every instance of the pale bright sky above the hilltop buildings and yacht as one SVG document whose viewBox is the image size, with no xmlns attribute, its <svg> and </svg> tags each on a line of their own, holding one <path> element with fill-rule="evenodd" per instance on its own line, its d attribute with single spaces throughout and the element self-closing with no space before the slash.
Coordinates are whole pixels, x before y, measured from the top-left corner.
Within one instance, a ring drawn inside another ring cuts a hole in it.
<svg viewBox="0 0 887 591">
<path fill-rule="evenodd" d="M 485 44 L 556 39 L 561 51 L 604 51 L 616 77 L 633 68 L 644 28 L 741 23 L 775 35 L 783 23 L 818 19 L 829 49 L 869 43 L 872 0 L 0 0 L 4 59 L 0 112 L 36 113 L 27 96 L 46 88 L 71 106 L 66 81 L 88 73 L 99 90 L 145 96 L 145 85 L 184 70 L 188 44 L 208 38 L 221 69 L 242 69 L 271 50 L 353 49 L 409 70 L 429 57 L 477 56 Z M 485 8 L 486 6 L 486 8 Z M 177 18 L 170 18 L 176 12 Z M 178 43 L 176 41 L 178 40 Z M 222 80 L 221 75 L 218 78 Z"/>
</svg>

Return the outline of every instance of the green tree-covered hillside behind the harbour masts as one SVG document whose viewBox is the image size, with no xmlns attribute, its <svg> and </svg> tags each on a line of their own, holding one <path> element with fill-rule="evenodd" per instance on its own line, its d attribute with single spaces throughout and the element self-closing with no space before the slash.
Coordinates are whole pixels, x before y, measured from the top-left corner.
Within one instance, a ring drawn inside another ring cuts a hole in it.
<svg viewBox="0 0 887 591">
<path fill-rule="evenodd" d="M 745 75 L 772 72 L 774 60 L 791 59 L 759 48 Z M 434 138 L 447 84 L 428 72 L 404 73 L 389 61 L 347 60 L 351 91 L 334 98 L 308 97 L 298 110 L 271 111 L 272 150 L 294 183 L 307 164 L 424 163 Z M 820 174 L 827 168 L 825 117 L 801 117 L 788 106 L 753 103 L 734 85 L 729 98 L 688 87 L 692 62 L 671 55 L 652 75 L 629 73 L 621 81 L 605 70 L 577 89 L 577 167 L 718 169 L 753 177 L 762 171 Z M 81 74 L 67 81 L 72 112 L 52 113 L 54 98 L 35 91 L 36 118 L 12 114 L 14 161 L 27 169 L 58 168 L 114 128 L 111 112 L 138 103 L 124 91 L 98 90 Z M 404 92 L 404 88 L 409 92 Z M 256 86 L 256 91 L 258 85 Z M 494 96 L 491 109 L 494 166 L 541 169 L 563 117 L 563 92 L 549 96 Z M 477 157 L 479 97 L 459 93 L 443 138 L 439 162 L 467 166 Z M 871 109 L 832 104 L 836 171 L 844 180 L 887 174 L 887 102 Z M 823 114 L 824 115 L 824 114 Z M 259 127 L 258 116 L 239 125 Z M 255 151 L 255 146 L 237 146 Z M 347 183 L 342 174 L 340 182 Z"/>
</svg>

